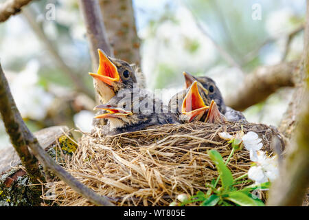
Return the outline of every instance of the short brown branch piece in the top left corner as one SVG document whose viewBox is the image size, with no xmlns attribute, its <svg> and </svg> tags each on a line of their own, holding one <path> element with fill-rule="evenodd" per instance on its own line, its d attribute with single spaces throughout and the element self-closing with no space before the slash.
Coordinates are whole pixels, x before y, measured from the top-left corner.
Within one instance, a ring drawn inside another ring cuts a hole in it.
<svg viewBox="0 0 309 220">
<path fill-rule="evenodd" d="M 0 4 L 0 22 L 8 20 L 11 15 L 21 12 L 21 7 L 32 0 L 8 0 Z"/>
</svg>

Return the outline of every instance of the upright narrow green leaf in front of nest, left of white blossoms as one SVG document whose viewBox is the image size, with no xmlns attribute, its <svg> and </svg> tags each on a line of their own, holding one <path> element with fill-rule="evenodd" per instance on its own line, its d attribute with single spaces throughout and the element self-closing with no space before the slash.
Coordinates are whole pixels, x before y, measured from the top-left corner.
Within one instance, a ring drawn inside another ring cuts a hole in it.
<svg viewBox="0 0 309 220">
<path fill-rule="evenodd" d="M 216 168 L 220 175 L 222 187 L 225 190 L 230 190 L 230 187 L 233 185 L 233 176 L 231 175 L 231 171 L 229 170 L 229 168 L 225 166 L 225 162 L 223 161 L 220 153 L 218 153 L 218 151 L 216 150 L 211 150 L 208 151 L 208 155 L 216 165 Z"/>
</svg>

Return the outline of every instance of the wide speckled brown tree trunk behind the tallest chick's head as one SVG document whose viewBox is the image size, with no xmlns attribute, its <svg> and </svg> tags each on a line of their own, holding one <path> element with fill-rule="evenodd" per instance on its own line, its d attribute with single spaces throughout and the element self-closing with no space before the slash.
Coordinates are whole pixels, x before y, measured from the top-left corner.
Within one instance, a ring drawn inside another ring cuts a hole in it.
<svg viewBox="0 0 309 220">
<path fill-rule="evenodd" d="M 113 54 L 123 61 L 140 65 L 140 41 L 132 1 L 100 0 L 99 3 Z"/>
</svg>

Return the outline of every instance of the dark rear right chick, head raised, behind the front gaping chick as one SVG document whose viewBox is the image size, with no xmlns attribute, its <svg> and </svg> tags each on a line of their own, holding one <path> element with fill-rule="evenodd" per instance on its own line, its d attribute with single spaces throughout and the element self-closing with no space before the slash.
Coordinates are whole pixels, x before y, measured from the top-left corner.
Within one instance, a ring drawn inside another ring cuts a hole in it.
<svg viewBox="0 0 309 220">
<path fill-rule="evenodd" d="M 198 83 L 200 83 L 199 85 L 208 91 L 208 100 L 214 100 L 218 110 L 220 113 L 225 115 L 227 120 L 231 122 L 247 122 L 246 118 L 240 111 L 236 111 L 225 105 L 222 94 L 219 88 L 216 86 L 214 80 L 207 76 L 194 77 L 188 72 L 183 72 L 183 76 L 185 76 L 185 88 L 190 87 L 194 81 L 198 81 Z"/>
</svg>

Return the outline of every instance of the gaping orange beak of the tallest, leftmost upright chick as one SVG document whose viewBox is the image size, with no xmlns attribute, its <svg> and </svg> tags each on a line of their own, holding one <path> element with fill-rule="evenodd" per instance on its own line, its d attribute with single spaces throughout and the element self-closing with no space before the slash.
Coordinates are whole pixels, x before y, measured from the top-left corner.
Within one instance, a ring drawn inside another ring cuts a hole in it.
<svg viewBox="0 0 309 220">
<path fill-rule="evenodd" d="M 108 85 L 113 85 L 113 82 L 117 82 L 120 79 L 117 67 L 109 60 L 108 56 L 104 54 L 101 49 L 98 49 L 98 53 L 100 57 L 98 72 L 96 74 L 89 73 L 89 75 Z"/>
</svg>

